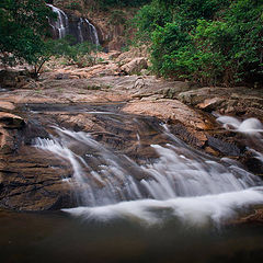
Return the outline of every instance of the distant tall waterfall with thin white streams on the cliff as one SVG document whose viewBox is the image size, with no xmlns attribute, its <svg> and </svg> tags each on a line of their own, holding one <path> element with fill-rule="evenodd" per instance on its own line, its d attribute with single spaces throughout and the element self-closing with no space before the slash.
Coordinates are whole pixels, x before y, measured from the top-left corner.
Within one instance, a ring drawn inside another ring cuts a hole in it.
<svg viewBox="0 0 263 263">
<path fill-rule="evenodd" d="M 96 28 L 88 19 L 75 18 L 71 21 L 61 9 L 53 4 L 47 5 L 57 14 L 57 20 L 49 19 L 54 38 L 62 38 L 66 35 L 72 35 L 78 43 L 89 41 L 96 46 L 100 45 Z"/>
</svg>

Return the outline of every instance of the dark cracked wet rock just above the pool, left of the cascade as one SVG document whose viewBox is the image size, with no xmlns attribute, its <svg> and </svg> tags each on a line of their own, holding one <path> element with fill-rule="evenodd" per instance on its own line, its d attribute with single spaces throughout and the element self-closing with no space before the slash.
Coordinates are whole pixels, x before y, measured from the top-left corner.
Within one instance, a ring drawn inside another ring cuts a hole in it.
<svg viewBox="0 0 263 263">
<path fill-rule="evenodd" d="M 62 178 L 71 176 L 68 163 L 34 147 L 24 146 L 7 156 L 0 168 L 0 206 L 15 210 L 47 210 L 72 204 L 71 191 Z M 61 206 L 62 205 L 62 206 Z"/>
</svg>

